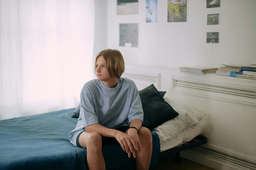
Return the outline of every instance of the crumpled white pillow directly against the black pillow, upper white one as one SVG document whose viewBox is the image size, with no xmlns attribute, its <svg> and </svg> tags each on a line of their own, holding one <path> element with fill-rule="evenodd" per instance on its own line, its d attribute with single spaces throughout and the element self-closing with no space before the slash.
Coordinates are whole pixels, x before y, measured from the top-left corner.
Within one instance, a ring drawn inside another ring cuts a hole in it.
<svg viewBox="0 0 256 170">
<path fill-rule="evenodd" d="M 172 137 L 178 135 L 179 132 L 183 131 L 187 127 L 198 124 L 200 120 L 205 117 L 205 113 L 196 109 L 196 114 L 192 109 L 182 102 L 173 100 L 171 98 L 163 98 L 172 108 L 179 113 L 179 116 L 172 120 L 168 120 L 158 127 L 154 128 L 153 131 L 159 135 L 164 136 L 161 144 L 167 142 Z M 194 109 L 194 108 L 193 108 Z"/>
</svg>

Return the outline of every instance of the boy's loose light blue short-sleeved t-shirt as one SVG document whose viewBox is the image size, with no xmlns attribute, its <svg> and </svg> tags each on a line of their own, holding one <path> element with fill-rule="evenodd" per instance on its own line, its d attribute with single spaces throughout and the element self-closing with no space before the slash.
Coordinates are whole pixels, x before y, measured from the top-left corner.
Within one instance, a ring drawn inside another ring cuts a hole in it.
<svg viewBox="0 0 256 170">
<path fill-rule="evenodd" d="M 94 79 L 84 84 L 81 108 L 76 128 L 69 133 L 70 142 L 77 146 L 77 135 L 84 127 L 98 123 L 116 129 L 128 125 L 134 119 L 143 121 L 143 109 L 138 89 L 128 78 L 119 78 L 117 86 L 109 88 Z"/>
</svg>

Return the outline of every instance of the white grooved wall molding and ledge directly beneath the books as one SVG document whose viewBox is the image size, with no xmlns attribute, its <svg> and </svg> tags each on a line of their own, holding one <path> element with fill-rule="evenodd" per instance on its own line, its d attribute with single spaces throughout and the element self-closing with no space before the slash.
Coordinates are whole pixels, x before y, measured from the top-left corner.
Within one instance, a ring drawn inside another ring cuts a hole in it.
<svg viewBox="0 0 256 170">
<path fill-rule="evenodd" d="M 180 73 L 172 76 L 172 91 L 256 107 L 255 80 Z"/>
</svg>

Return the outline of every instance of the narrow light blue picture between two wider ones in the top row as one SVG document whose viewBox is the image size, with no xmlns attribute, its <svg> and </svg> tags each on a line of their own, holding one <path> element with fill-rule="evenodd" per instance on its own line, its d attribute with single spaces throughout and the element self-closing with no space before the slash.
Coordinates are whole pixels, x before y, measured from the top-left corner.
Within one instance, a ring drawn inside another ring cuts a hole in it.
<svg viewBox="0 0 256 170">
<path fill-rule="evenodd" d="M 157 22 L 157 0 L 146 0 L 146 22 Z"/>
</svg>

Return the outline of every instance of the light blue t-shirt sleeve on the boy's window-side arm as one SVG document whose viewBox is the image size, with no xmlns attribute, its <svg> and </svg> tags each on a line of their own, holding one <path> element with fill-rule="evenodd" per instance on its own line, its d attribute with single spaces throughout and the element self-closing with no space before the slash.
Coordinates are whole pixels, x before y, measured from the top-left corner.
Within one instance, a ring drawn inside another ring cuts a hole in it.
<svg viewBox="0 0 256 170">
<path fill-rule="evenodd" d="M 80 114 L 82 118 L 82 127 L 89 126 L 94 123 L 98 123 L 98 117 L 96 116 L 94 109 L 94 99 L 92 96 L 92 92 L 89 88 L 84 89 L 80 94 L 81 99 L 81 108 Z"/>
</svg>

